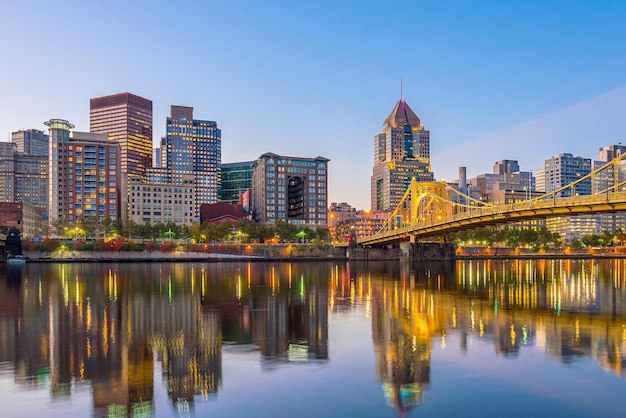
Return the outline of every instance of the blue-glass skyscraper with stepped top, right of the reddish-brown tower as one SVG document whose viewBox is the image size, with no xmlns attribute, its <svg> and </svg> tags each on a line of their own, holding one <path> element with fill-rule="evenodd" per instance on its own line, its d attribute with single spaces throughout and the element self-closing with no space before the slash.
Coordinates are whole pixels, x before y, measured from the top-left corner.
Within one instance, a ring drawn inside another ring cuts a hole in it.
<svg viewBox="0 0 626 418">
<path fill-rule="evenodd" d="M 200 205 L 217 202 L 218 167 L 222 161 L 222 132 L 217 123 L 193 118 L 193 107 L 172 106 L 166 136 L 161 138 L 161 167 L 193 174 L 196 220 Z"/>
</svg>

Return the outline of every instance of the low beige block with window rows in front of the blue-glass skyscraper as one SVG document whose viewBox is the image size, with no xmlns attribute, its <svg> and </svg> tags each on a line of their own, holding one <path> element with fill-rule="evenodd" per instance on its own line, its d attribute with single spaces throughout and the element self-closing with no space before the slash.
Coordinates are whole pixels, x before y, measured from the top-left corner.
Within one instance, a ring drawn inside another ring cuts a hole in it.
<svg viewBox="0 0 626 418">
<path fill-rule="evenodd" d="M 173 222 L 189 225 L 195 219 L 195 186 L 192 174 L 183 175 L 178 183 L 146 181 L 140 176 L 130 176 L 129 217 L 138 224 Z"/>
</svg>

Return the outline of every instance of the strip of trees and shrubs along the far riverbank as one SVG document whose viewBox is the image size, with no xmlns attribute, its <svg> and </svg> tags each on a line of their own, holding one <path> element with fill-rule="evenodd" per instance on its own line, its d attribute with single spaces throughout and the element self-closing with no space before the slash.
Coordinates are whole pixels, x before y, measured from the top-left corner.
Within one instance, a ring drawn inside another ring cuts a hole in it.
<svg viewBox="0 0 626 418">
<path fill-rule="evenodd" d="M 137 243 L 127 240 L 104 241 L 24 241 L 22 254 L 30 262 L 162 262 L 162 261 L 316 261 L 399 260 L 397 252 L 386 257 L 360 258 L 346 254 L 345 247 L 329 243 L 186 243 L 175 241 Z M 583 259 L 626 258 L 626 247 L 589 247 L 549 250 L 506 247 L 456 249 L 456 259 Z M 427 260 L 425 260 L 427 261 Z M 434 261 L 434 260 L 433 260 Z"/>
</svg>

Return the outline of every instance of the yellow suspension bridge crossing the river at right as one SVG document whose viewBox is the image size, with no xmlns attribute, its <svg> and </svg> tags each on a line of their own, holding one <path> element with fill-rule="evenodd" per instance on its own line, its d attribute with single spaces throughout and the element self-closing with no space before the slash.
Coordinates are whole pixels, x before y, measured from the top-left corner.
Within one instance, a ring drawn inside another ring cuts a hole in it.
<svg viewBox="0 0 626 418">
<path fill-rule="evenodd" d="M 626 154 L 558 190 L 532 199 L 494 205 L 444 182 L 413 179 L 383 227 L 360 245 L 433 239 L 465 229 L 533 219 L 626 211 Z M 579 195 L 591 184 L 591 194 Z"/>
</svg>

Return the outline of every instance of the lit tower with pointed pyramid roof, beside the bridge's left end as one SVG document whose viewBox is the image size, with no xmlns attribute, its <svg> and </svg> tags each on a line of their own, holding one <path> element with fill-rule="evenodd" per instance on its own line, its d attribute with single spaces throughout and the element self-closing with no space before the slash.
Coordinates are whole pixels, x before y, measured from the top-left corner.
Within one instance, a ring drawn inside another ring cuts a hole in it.
<svg viewBox="0 0 626 418">
<path fill-rule="evenodd" d="M 430 132 L 409 105 L 400 99 L 374 137 L 371 177 L 373 210 L 393 210 L 411 180 L 433 181 L 430 167 Z"/>
</svg>

